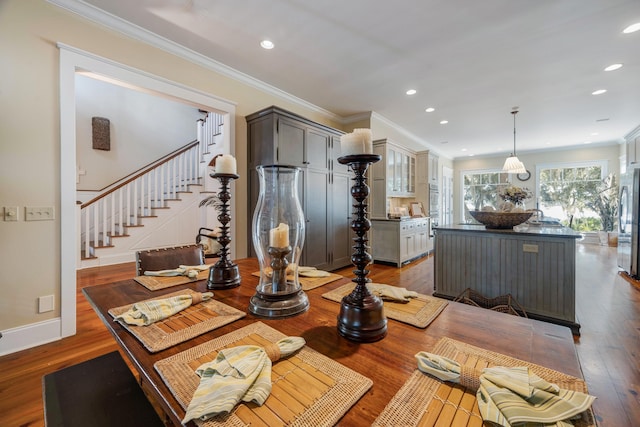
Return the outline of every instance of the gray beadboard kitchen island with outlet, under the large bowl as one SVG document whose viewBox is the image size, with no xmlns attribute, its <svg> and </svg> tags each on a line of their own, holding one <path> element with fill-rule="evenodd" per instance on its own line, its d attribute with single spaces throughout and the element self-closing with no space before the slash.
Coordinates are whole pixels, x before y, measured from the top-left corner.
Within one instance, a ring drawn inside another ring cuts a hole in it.
<svg viewBox="0 0 640 427">
<path fill-rule="evenodd" d="M 576 335 L 576 240 L 566 227 L 483 225 L 434 228 L 434 295 L 454 299 L 471 288 L 487 298 L 511 294 L 530 318 Z"/>
</svg>

